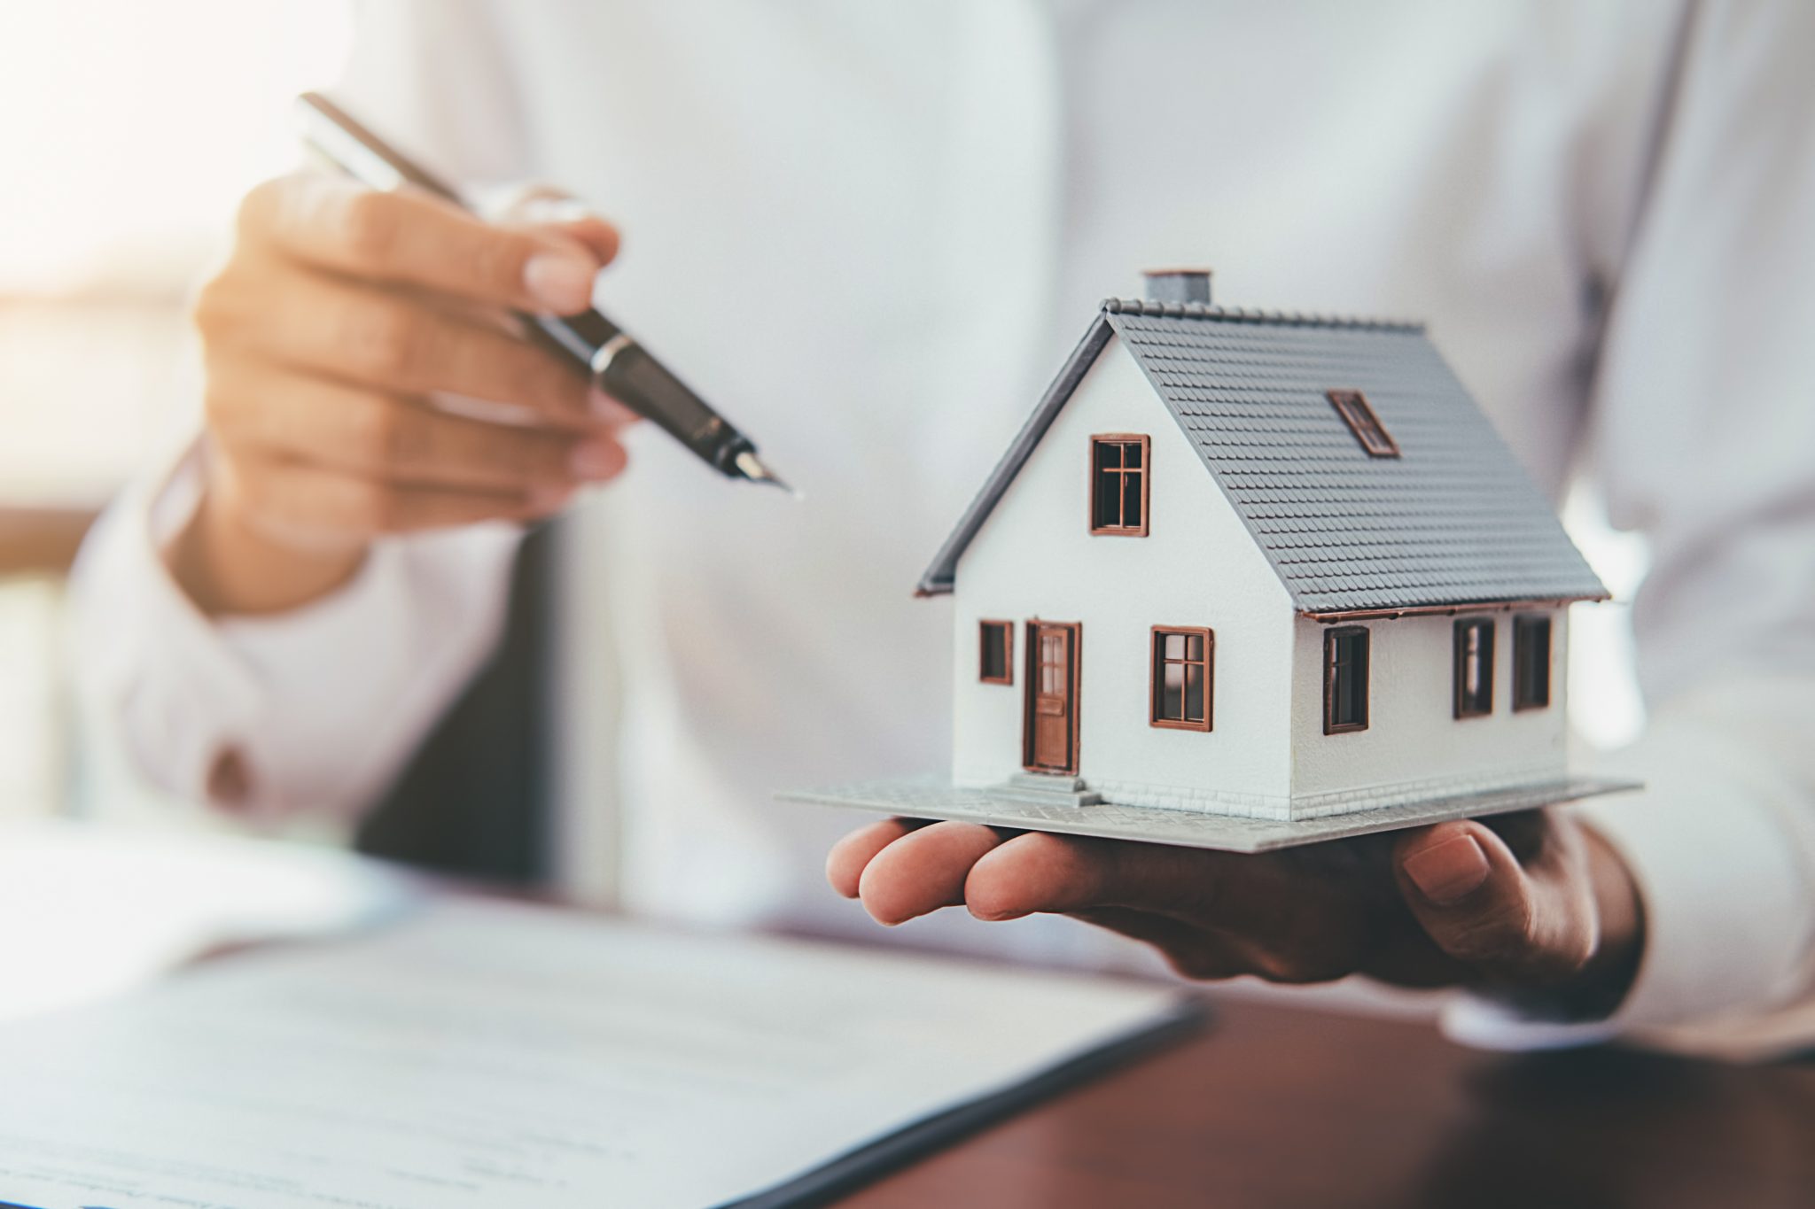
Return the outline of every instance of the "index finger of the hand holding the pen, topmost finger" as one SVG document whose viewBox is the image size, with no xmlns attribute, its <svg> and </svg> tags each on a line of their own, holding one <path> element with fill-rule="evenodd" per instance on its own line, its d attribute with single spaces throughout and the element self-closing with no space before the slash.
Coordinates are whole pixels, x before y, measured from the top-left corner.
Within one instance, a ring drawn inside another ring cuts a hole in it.
<svg viewBox="0 0 1815 1209">
<path fill-rule="evenodd" d="M 557 315 L 586 310 L 604 263 L 570 236 L 492 227 L 419 190 L 378 192 L 318 174 L 254 189 L 240 227 L 285 256 L 352 277 Z"/>
</svg>

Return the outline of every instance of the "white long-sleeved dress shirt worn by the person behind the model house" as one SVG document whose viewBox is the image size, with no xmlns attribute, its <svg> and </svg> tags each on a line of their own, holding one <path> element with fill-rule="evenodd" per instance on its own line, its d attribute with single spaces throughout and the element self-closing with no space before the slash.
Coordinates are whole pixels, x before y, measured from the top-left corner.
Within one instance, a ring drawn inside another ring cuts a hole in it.
<svg viewBox="0 0 1815 1209">
<path fill-rule="evenodd" d="M 365 16 L 348 105 L 457 179 L 557 181 L 617 221 L 601 305 L 808 493 L 722 482 L 639 431 L 630 473 L 574 511 L 572 886 L 871 933 L 820 875 L 857 819 L 770 792 L 946 767 L 949 616 L 911 598 L 918 571 L 1096 301 L 1212 265 L 1227 305 L 1425 317 L 1554 497 L 1584 471 L 1650 537 L 1650 725 L 1612 758 L 1648 788 L 1584 808 L 1648 919 L 1603 1031 L 1815 1039 L 1815 5 Z M 194 480 L 147 479 L 85 556 L 87 691 L 183 796 L 236 749 L 261 816 L 350 816 L 488 653 L 515 533 L 381 542 L 329 600 L 211 624 L 154 555 Z M 908 932 L 1136 952 L 946 915 Z M 1483 1002 L 1452 1030 L 1545 1039 Z"/>
</svg>

